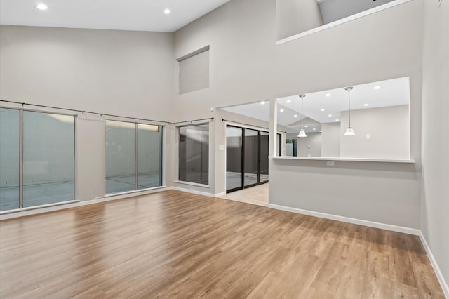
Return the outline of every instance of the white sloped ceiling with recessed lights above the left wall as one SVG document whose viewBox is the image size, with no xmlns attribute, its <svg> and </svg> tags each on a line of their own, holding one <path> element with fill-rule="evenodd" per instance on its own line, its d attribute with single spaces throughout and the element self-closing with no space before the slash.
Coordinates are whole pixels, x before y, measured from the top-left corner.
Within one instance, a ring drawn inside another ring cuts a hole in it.
<svg viewBox="0 0 449 299">
<path fill-rule="evenodd" d="M 228 1 L 0 0 L 0 24 L 175 32 Z M 48 9 L 39 11 L 40 3 Z"/>
</svg>

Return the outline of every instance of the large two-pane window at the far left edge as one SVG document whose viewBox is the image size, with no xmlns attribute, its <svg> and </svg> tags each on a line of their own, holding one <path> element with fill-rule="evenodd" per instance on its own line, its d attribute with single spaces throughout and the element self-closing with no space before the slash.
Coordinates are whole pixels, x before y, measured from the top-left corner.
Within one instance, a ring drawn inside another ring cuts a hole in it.
<svg viewBox="0 0 449 299">
<path fill-rule="evenodd" d="M 73 200 L 75 117 L 8 108 L 0 116 L 0 210 Z"/>
</svg>

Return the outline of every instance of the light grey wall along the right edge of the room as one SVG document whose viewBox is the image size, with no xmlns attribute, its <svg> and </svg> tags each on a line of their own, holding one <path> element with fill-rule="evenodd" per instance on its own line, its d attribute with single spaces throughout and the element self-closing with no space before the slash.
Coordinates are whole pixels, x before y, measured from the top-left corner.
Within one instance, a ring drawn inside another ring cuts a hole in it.
<svg viewBox="0 0 449 299">
<path fill-rule="evenodd" d="M 449 2 L 424 1 L 421 230 L 449 297 Z"/>
</svg>

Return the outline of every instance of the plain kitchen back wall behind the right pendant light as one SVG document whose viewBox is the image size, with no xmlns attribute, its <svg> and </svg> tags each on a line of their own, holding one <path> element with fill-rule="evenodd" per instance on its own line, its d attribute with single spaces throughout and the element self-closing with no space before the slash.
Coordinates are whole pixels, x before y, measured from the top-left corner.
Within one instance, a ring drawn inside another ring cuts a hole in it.
<svg viewBox="0 0 449 299">
<path fill-rule="evenodd" d="M 410 159 L 408 105 L 351 110 L 356 135 L 344 135 L 349 126 L 347 112 L 342 112 L 341 119 L 340 157 Z"/>
</svg>

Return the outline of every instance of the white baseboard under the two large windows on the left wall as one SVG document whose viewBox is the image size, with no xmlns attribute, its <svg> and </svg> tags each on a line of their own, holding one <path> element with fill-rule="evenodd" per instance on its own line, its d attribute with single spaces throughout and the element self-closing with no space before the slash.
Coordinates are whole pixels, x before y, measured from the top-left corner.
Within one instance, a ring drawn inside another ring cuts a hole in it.
<svg viewBox="0 0 449 299">
<path fill-rule="evenodd" d="M 51 206 L 37 206 L 36 208 L 27 208 L 26 210 L 12 210 L 11 213 L 4 213 L 0 215 L 0 221 L 1 220 L 7 220 L 7 219 L 13 219 L 13 218 L 20 218 L 20 217 L 25 217 L 25 216 L 29 216 L 29 215 L 36 215 L 36 214 L 41 214 L 41 213 L 48 213 L 48 212 L 53 212 L 53 211 L 60 211 L 60 210 L 65 210 L 67 208 L 76 208 L 78 206 L 87 206 L 90 204 L 98 204 L 100 202 L 105 202 L 105 201 L 114 201 L 117 199 L 126 199 L 128 197 L 135 197 L 135 196 L 142 196 L 142 195 L 146 195 L 146 194 L 152 194 L 152 193 L 156 193 L 156 192 L 161 192 L 161 191 L 165 191 L 165 190 L 170 190 L 170 188 L 167 187 L 158 187 L 156 189 L 152 189 L 152 190 L 147 190 L 146 192 L 134 192 L 132 194 L 121 194 L 121 195 L 116 195 L 114 197 L 103 197 L 102 199 L 91 199 L 91 200 L 87 200 L 87 201 L 74 201 L 74 202 L 70 202 L 70 201 L 65 201 L 63 203 L 56 203 L 56 204 L 52 204 Z M 139 194 L 138 194 L 139 193 Z M 10 211 L 8 211 L 10 212 Z"/>
</svg>

